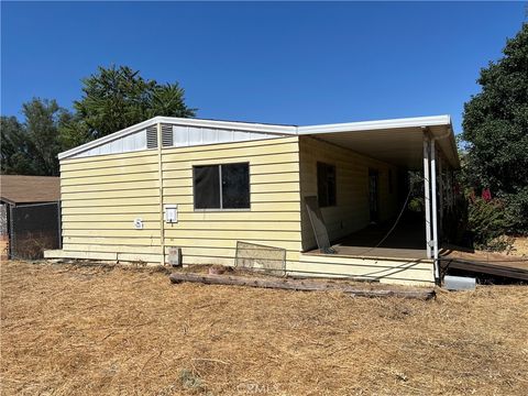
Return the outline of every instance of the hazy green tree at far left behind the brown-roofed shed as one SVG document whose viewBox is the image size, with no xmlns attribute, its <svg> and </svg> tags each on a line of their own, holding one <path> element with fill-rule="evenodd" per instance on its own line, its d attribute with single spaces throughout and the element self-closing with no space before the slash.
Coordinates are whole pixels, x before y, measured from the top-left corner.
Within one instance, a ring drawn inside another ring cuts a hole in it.
<svg viewBox="0 0 528 396">
<path fill-rule="evenodd" d="M 65 117 L 55 100 L 38 99 L 22 105 L 24 122 L 1 118 L 1 170 L 19 175 L 58 175 L 62 151 L 58 125 Z"/>
</svg>

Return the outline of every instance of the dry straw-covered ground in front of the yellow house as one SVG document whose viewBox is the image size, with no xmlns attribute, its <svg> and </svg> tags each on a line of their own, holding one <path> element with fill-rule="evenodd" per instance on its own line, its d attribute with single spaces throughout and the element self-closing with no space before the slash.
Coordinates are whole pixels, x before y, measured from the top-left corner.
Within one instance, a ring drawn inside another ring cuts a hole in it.
<svg viewBox="0 0 528 396">
<path fill-rule="evenodd" d="M 436 300 L 3 262 L 2 395 L 527 395 L 528 287 Z"/>
</svg>

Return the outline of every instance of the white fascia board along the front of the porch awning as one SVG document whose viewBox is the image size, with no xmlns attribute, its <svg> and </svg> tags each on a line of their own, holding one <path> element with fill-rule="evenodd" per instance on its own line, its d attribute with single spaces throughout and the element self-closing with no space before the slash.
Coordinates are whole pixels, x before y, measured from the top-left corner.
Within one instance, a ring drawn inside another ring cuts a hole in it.
<svg viewBox="0 0 528 396">
<path fill-rule="evenodd" d="M 378 120 L 378 121 L 361 121 L 361 122 L 345 122 L 326 125 L 308 125 L 299 127 L 299 134 L 318 134 L 332 132 L 353 132 L 353 131 L 373 131 L 384 129 L 399 129 L 399 128 L 420 128 L 420 127 L 451 127 L 451 117 L 449 116 L 433 116 L 433 117 L 416 117 L 394 120 Z"/>
</svg>

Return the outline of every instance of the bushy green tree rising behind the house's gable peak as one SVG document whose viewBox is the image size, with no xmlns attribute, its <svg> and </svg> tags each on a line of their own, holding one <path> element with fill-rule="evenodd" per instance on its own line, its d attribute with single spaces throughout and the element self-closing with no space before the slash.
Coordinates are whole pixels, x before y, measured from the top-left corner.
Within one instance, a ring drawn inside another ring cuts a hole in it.
<svg viewBox="0 0 528 396">
<path fill-rule="evenodd" d="M 195 116 L 177 82 L 161 85 L 127 66 L 99 67 L 82 85 L 76 114 L 62 129 L 63 143 L 84 143 L 156 116 Z"/>
</svg>

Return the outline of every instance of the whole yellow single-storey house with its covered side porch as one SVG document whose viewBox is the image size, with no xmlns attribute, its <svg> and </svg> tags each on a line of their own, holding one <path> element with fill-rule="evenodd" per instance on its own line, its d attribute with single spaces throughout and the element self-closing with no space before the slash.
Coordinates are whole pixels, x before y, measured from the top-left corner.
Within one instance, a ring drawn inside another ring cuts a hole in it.
<svg viewBox="0 0 528 396">
<path fill-rule="evenodd" d="M 290 275 L 421 285 L 438 278 L 459 167 L 448 116 L 310 127 L 156 117 L 59 161 L 63 249 L 46 257 L 233 265 L 246 243 L 285 252 Z M 407 169 L 424 169 L 426 216 L 391 230 Z"/>
</svg>

